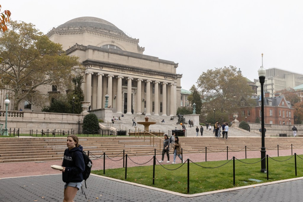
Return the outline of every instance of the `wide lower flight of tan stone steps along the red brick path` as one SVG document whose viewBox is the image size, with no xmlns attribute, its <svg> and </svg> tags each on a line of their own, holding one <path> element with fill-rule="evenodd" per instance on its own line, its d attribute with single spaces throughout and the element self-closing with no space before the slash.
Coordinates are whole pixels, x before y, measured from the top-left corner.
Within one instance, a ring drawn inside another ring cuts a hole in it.
<svg viewBox="0 0 303 202">
<path fill-rule="evenodd" d="M 151 138 L 153 139 L 153 138 Z M 250 149 L 261 147 L 260 137 L 228 137 L 228 140 L 215 137 L 180 137 L 184 154 L 189 152 L 205 152 L 205 147 L 212 151 L 221 151 L 227 146 L 234 151 L 240 151 L 247 146 Z M 153 144 L 149 137 L 79 137 L 79 142 L 84 151 L 90 151 L 93 157 L 100 157 L 103 152 L 108 157 L 122 157 L 123 150 L 129 156 L 161 154 L 162 140 L 155 137 Z M 303 147 L 301 137 L 265 137 L 265 146 L 274 149 L 279 144 L 279 149 Z M 66 149 L 66 137 L 20 137 L 0 138 L 0 163 L 24 161 L 51 161 L 61 160 Z M 150 152 L 149 154 L 146 154 Z"/>
</svg>

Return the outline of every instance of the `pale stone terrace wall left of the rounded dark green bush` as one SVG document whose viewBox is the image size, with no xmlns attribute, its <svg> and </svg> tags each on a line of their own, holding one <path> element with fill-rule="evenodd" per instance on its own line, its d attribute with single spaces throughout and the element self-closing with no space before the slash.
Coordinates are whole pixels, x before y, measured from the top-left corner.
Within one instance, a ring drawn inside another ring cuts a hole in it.
<svg viewBox="0 0 303 202">
<path fill-rule="evenodd" d="M 30 130 L 50 131 L 56 130 L 75 130 L 78 133 L 80 120 L 80 129 L 83 123 L 82 114 L 63 114 L 31 111 L 8 111 L 7 127 L 8 130 L 20 129 L 19 133 L 29 133 Z M 0 110 L 0 123 L 5 126 L 5 111 Z"/>
</svg>

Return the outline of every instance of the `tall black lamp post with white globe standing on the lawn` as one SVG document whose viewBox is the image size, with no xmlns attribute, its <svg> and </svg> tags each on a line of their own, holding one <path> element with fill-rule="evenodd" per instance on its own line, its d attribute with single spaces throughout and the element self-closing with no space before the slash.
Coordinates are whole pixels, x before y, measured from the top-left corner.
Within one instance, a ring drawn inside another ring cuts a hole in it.
<svg viewBox="0 0 303 202">
<path fill-rule="evenodd" d="M 264 91 L 263 85 L 265 82 L 266 70 L 263 68 L 263 53 L 262 66 L 258 70 L 259 82 L 261 84 L 261 172 L 266 173 L 266 159 L 265 159 L 265 130 L 264 130 Z"/>
</svg>

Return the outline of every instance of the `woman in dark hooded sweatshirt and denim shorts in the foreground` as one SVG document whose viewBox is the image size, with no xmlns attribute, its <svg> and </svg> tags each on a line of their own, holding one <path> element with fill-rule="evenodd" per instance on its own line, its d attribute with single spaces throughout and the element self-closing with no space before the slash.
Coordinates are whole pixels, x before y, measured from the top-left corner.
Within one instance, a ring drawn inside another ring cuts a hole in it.
<svg viewBox="0 0 303 202">
<path fill-rule="evenodd" d="M 74 201 L 77 191 L 82 186 L 85 164 L 82 155 L 83 148 L 79 144 L 79 139 L 76 135 L 67 137 L 67 149 L 64 151 L 62 167 L 62 180 L 64 185 L 64 200 Z"/>
</svg>

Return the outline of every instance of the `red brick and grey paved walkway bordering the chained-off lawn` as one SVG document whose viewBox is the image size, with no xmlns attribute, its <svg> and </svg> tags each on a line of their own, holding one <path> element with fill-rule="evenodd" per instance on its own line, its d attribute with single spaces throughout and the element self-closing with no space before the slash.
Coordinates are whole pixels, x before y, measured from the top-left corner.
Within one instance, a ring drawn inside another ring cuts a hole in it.
<svg viewBox="0 0 303 202">
<path fill-rule="evenodd" d="M 293 153 L 303 154 L 303 149 L 293 150 Z M 271 157 L 277 156 L 277 150 L 266 152 Z M 291 155 L 291 150 L 279 150 L 279 156 Z M 228 152 L 232 156 L 245 158 L 245 151 Z M 248 158 L 259 158 L 260 151 L 248 151 Z M 152 156 L 131 157 L 136 163 L 145 163 Z M 157 156 L 158 160 L 160 156 Z M 191 161 L 205 161 L 205 153 L 185 154 L 184 159 Z M 119 160 L 115 158 L 112 160 Z M 226 160 L 226 151 L 208 153 L 207 161 Z M 106 159 L 105 169 L 122 167 L 123 162 Z M 166 160 L 166 157 L 165 157 Z M 128 161 L 128 166 L 137 164 Z M 61 165 L 62 161 L 22 162 L 0 164 L 0 202 L 28 202 L 28 201 L 63 201 L 62 175 L 60 171 L 50 168 L 50 165 Z M 180 162 L 178 162 L 180 163 Z M 95 170 L 103 169 L 103 159 L 93 160 Z M 151 165 L 150 161 L 146 165 Z M 38 176 L 41 175 L 41 176 Z M 31 177 L 24 177 L 31 176 Z M 184 197 L 182 194 L 172 194 L 165 190 L 154 190 L 135 184 L 119 182 L 91 175 L 87 180 L 88 189 L 85 189 L 87 200 L 81 190 L 75 197 L 79 201 L 301 201 L 303 198 L 303 179 L 284 180 L 279 183 L 264 183 L 261 186 L 237 187 L 228 190 L 219 190 L 211 193 L 195 194 Z"/>
</svg>

